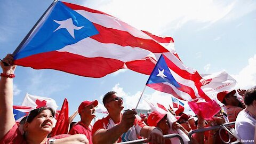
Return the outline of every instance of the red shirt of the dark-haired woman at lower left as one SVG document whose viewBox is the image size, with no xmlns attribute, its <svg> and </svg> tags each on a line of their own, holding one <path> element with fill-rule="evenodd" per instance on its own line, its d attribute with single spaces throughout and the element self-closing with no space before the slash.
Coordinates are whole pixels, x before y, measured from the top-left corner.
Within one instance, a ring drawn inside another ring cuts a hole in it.
<svg viewBox="0 0 256 144">
<path fill-rule="evenodd" d="M 54 139 L 61 139 L 61 138 L 66 138 L 69 137 L 69 134 L 60 134 L 56 135 L 52 138 Z M 48 138 L 51 139 L 51 138 Z M 7 132 L 4 137 L 0 140 L 1 144 L 26 144 L 27 141 L 23 138 L 23 135 L 21 135 L 18 125 L 15 123 L 12 127 L 12 129 Z"/>
</svg>

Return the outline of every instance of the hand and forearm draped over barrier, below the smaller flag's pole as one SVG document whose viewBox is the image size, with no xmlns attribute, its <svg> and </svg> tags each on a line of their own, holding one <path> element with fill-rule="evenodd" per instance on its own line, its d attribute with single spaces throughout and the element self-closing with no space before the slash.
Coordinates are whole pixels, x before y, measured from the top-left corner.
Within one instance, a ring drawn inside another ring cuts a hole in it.
<svg viewBox="0 0 256 144">
<path fill-rule="evenodd" d="M 147 138 L 145 142 L 164 143 L 164 136 L 161 130 L 155 129 L 154 126 L 143 126 L 140 130 L 140 135 Z"/>
</svg>

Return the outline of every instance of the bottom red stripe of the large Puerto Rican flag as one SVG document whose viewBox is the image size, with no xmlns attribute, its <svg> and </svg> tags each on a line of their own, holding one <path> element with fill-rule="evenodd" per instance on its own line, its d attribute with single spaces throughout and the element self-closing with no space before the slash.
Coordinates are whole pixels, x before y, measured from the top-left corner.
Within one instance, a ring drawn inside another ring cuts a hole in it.
<svg viewBox="0 0 256 144">
<path fill-rule="evenodd" d="M 126 62 L 126 65 L 131 70 L 150 75 L 154 68 L 154 64 L 151 63 L 152 61 L 154 60 L 148 57 L 142 60 Z M 125 68 L 125 63 L 120 60 L 102 57 L 86 58 L 69 52 L 57 51 L 30 55 L 29 57 L 15 60 L 14 64 L 34 69 L 47 68 L 61 70 L 87 77 L 103 77 L 118 69 Z M 88 70 L 88 68 L 90 68 L 90 70 Z"/>
</svg>

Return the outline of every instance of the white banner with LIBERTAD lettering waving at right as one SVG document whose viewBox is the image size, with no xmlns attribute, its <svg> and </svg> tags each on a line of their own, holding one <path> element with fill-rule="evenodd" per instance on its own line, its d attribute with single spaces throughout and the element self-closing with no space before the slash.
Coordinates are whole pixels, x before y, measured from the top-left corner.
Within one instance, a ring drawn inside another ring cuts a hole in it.
<svg viewBox="0 0 256 144">
<path fill-rule="evenodd" d="M 216 94 L 226 90 L 234 89 L 236 80 L 231 77 L 226 71 L 221 71 L 214 74 L 200 74 L 206 81 L 206 84 L 201 87 L 205 94 Z"/>
</svg>

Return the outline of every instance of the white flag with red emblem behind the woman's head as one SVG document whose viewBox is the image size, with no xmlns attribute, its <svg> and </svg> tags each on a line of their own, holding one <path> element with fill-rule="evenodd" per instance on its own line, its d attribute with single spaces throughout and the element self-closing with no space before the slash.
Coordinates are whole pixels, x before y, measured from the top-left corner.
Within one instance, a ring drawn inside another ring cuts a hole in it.
<svg viewBox="0 0 256 144">
<path fill-rule="evenodd" d="M 51 107 L 54 110 L 58 108 L 55 100 L 51 98 L 46 98 L 46 97 L 39 97 L 37 95 L 31 95 L 28 93 L 26 94 L 21 106 L 32 107 L 32 108 L 40 108 L 40 107 L 46 106 L 46 107 Z"/>
</svg>

